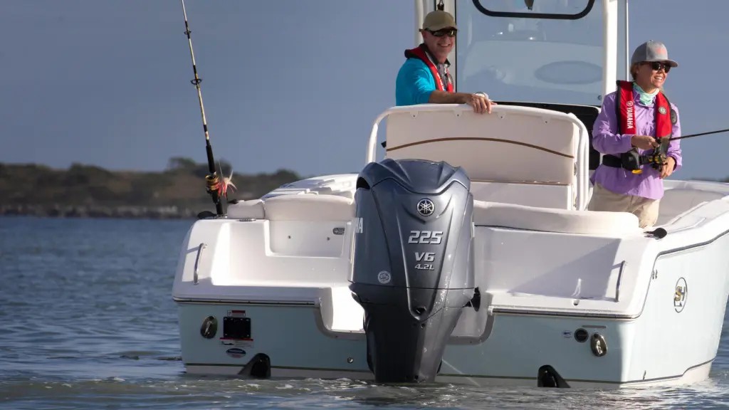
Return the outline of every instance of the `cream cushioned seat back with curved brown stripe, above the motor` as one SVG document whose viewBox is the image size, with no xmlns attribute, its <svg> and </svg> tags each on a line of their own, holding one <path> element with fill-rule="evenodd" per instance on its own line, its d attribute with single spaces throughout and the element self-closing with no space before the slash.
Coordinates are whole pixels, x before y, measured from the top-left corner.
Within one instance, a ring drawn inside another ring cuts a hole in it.
<svg viewBox="0 0 729 410">
<path fill-rule="evenodd" d="M 472 182 L 518 184 L 518 196 L 546 192 L 553 197 L 545 206 L 574 208 L 581 132 L 574 116 L 531 107 L 495 107 L 484 115 L 461 106 L 420 110 L 432 105 L 389 113 L 387 158 L 443 160 L 462 167 Z M 553 188 L 532 189 L 537 185 Z"/>
</svg>

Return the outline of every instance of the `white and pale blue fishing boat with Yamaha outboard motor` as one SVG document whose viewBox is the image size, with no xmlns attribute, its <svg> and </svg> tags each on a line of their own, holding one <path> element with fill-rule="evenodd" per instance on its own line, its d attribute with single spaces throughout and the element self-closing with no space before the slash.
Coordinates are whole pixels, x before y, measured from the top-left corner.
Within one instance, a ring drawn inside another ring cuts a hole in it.
<svg viewBox="0 0 729 410">
<path fill-rule="evenodd" d="M 500 104 L 491 115 L 386 109 L 359 174 L 195 221 L 173 287 L 186 371 L 534 387 L 706 379 L 729 293 L 729 185 L 666 180 L 647 230 L 633 214 L 585 210 L 599 97 L 626 76 L 625 1 L 571 1 L 561 19 L 443 3 L 459 26 L 459 89 Z M 520 12 L 564 4 L 534 3 Z M 416 1 L 416 19 L 433 4 Z"/>
</svg>

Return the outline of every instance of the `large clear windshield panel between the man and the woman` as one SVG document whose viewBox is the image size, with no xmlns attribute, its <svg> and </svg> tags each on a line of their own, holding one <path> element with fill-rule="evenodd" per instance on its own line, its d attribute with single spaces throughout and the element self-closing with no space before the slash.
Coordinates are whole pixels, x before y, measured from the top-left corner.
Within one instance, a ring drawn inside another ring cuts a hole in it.
<svg viewBox="0 0 729 410">
<path fill-rule="evenodd" d="M 603 19 L 594 0 L 457 0 L 456 84 L 496 101 L 599 106 Z"/>
</svg>

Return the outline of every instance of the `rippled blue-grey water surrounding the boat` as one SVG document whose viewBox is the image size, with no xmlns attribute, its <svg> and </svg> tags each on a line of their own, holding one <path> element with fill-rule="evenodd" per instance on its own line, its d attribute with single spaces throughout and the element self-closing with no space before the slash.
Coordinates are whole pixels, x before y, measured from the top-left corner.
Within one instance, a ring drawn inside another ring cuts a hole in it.
<svg viewBox="0 0 729 410">
<path fill-rule="evenodd" d="M 729 404 L 726 323 L 711 378 L 689 387 L 391 387 L 348 379 L 187 375 L 171 287 L 191 222 L 0 217 L 0 408 L 726 409 Z"/>
</svg>

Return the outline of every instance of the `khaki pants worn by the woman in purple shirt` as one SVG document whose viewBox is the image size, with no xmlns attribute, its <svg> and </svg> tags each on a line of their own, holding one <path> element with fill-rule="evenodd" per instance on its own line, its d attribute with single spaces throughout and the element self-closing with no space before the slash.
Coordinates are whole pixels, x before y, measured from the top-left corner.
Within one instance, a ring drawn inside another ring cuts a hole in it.
<svg viewBox="0 0 729 410">
<path fill-rule="evenodd" d="M 658 220 L 660 199 L 623 195 L 605 189 L 600 184 L 593 187 L 593 196 L 588 204 L 589 211 L 630 212 L 638 217 L 641 228 L 655 225 Z"/>
</svg>

